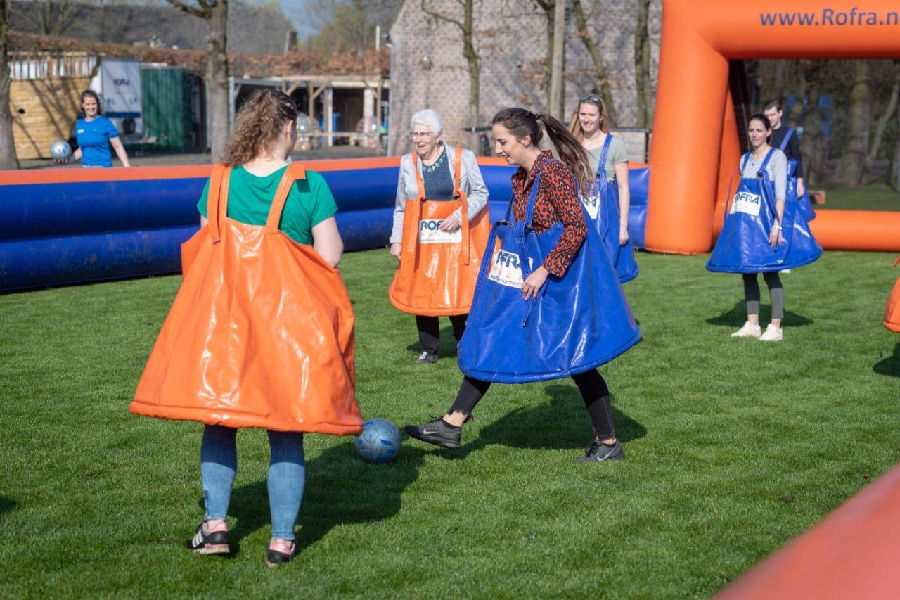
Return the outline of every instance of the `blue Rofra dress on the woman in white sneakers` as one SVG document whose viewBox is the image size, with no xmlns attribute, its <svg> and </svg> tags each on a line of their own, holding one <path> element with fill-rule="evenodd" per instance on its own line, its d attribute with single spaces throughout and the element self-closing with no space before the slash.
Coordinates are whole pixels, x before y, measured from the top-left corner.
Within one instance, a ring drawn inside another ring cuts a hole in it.
<svg viewBox="0 0 900 600">
<path fill-rule="evenodd" d="M 784 241 L 772 248 L 769 235 L 778 218 L 775 210 L 775 184 L 766 167 L 775 149 L 770 149 L 756 177 L 741 177 L 737 193 L 725 206 L 725 225 L 707 261 L 711 271 L 725 273 L 765 273 L 797 268 L 815 262 L 822 247 L 815 241 L 803 213 L 797 210 L 797 196 L 785 202 L 781 220 Z M 743 155 L 741 172 L 750 159 Z M 730 194 L 729 194 L 730 195 Z"/>
</svg>

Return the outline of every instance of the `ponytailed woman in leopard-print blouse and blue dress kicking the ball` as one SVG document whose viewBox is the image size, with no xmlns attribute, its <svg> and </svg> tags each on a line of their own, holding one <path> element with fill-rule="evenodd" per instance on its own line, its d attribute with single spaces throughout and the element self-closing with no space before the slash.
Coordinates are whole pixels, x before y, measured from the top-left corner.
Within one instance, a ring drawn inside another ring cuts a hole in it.
<svg viewBox="0 0 900 600">
<path fill-rule="evenodd" d="M 541 150 L 542 123 L 560 159 Z M 579 462 L 624 459 L 597 367 L 633 346 L 640 332 L 579 200 L 576 179 L 593 178 L 585 151 L 563 123 L 522 108 L 496 114 L 493 134 L 495 152 L 518 171 L 506 219 L 491 229 L 459 344 L 463 384 L 443 417 L 406 432 L 456 449 L 492 382 L 572 377 L 594 430 Z"/>
</svg>

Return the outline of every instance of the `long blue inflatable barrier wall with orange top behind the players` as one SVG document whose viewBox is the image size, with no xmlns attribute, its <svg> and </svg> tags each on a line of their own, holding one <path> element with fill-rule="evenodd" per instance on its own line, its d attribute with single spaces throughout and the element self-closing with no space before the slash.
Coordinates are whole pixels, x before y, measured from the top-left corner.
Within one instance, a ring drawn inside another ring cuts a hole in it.
<svg viewBox="0 0 900 600">
<path fill-rule="evenodd" d="M 479 162 L 491 219 L 500 219 L 515 168 L 498 159 Z M 387 245 L 400 158 L 307 164 L 335 196 L 345 248 Z M 199 227 L 196 205 L 210 169 L 0 172 L 0 291 L 179 272 L 179 247 Z M 644 246 L 647 170 L 633 168 L 630 177 L 635 247 Z"/>
</svg>

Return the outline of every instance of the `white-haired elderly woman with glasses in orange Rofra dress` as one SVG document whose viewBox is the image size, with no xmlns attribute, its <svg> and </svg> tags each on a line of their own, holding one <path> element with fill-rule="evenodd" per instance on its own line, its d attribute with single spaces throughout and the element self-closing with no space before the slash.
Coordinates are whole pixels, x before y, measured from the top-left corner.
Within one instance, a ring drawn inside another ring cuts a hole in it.
<svg viewBox="0 0 900 600">
<path fill-rule="evenodd" d="M 392 304 L 416 315 L 419 364 L 437 362 L 437 317 L 448 316 L 456 341 L 472 305 L 490 220 L 488 188 L 472 150 L 441 140 L 433 110 L 410 119 L 413 150 L 403 155 L 391 233 L 400 261 L 391 284 Z"/>
</svg>

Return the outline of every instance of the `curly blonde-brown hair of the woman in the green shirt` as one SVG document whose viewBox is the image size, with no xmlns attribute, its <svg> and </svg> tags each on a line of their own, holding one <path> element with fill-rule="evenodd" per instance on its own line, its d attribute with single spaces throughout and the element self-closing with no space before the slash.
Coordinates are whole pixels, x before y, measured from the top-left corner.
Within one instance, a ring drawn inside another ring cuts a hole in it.
<svg viewBox="0 0 900 600">
<path fill-rule="evenodd" d="M 281 135 L 284 123 L 296 120 L 297 106 L 291 96 L 275 89 L 258 89 L 238 110 L 222 162 L 237 167 L 265 155 Z"/>
</svg>

